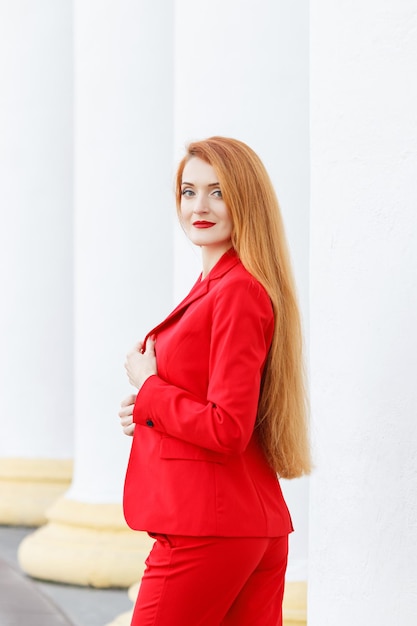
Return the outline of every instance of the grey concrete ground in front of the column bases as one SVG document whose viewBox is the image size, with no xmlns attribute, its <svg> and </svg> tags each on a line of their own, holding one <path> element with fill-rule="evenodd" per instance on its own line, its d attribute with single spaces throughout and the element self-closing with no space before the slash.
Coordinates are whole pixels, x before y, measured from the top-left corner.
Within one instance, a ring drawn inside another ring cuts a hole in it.
<svg viewBox="0 0 417 626">
<path fill-rule="evenodd" d="M 93 589 L 34 580 L 17 561 L 31 528 L 0 526 L 1 626 L 106 626 L 130 611 L 126 589 Z"/>
</svg>

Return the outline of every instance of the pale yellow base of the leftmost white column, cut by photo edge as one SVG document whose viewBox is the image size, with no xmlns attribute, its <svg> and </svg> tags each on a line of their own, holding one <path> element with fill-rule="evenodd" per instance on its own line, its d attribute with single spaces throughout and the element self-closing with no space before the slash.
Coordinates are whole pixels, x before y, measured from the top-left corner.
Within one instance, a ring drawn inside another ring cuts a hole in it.
<svg viewBox="0 0 417 626">
<path fill-rule="evenodd" d="M 68 489 L 68 459 L 0 459 L 0 524 L 40 526 L 45 511 Z"/>
</svg>

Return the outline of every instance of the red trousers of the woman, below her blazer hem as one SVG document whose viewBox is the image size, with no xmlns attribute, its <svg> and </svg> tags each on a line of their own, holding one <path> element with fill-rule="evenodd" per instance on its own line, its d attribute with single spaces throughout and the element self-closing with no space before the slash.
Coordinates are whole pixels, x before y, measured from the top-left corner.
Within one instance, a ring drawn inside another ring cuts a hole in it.
<svg viewBox="0 0 417 626">
<path fill-rule="evenodd" d="M 152 537 L 131 626 L 282 626 L 287 536 Z"/>
</svg>

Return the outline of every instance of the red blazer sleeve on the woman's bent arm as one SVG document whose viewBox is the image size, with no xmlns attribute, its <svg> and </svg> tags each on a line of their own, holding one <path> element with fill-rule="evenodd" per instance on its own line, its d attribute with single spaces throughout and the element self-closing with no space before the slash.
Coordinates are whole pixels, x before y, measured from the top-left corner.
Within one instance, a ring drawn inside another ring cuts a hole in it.
<svg viewBox="0 0 417 626">
<path fill-rule="evenodd" d="M 154 375 L 137 395 L 134 422 L 216 452 L 242 452 L 253 433 L 273 326 L 271 301 L 255 280 L 219 289 L 208 329 L 207 398 Z"/>
</svg>

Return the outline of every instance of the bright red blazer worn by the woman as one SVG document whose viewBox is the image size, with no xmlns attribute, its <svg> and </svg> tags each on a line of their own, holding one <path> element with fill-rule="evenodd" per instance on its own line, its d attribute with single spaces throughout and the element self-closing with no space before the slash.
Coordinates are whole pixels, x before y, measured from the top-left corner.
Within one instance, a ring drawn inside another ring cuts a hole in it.
<svg viewBox="0 0 417 626">
<path fill-rule="evenodd" d="M 156 335 L 158 375 L 145 381 L 133 411 L 124 490 L 131 528 L 197 536 L 291 532 L 254 430 L 273 328 L 265 289 L 231 250 L 148 333 Z"/>
</svg>

